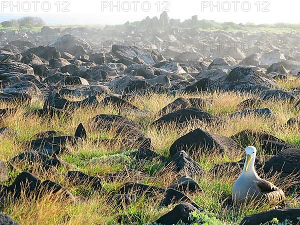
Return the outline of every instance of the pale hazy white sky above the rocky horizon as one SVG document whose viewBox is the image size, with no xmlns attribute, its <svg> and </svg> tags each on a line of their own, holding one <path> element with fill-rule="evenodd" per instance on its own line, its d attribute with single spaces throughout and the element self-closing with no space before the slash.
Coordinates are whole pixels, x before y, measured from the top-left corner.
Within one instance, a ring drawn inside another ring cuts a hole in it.
<svg viewBox="0 0 300 225">
<path fill-rule="evenodd" d="M 0 4 L 0 21 L 39 16 L 48 24 L 122 24 L 146 16 L 159 17 L 162 10 L 168 10 L 170 18 L 181 21 L 196 14 L 199 19 L 219 22 L 300 23 L 299 0 L 1 0 Z M 212 4 L 215 7 L 211 8 Z"/>
</svg>

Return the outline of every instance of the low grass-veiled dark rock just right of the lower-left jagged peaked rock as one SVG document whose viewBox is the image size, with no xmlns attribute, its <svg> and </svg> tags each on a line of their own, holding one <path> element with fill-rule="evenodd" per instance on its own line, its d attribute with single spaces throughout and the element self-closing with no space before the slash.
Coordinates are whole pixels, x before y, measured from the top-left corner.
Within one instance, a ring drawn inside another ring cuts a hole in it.
<svg viewBox="0 0 300 225">
<path fill-rule="evenodd" d="M 74 185 L 85 185 L 94 190 L 102 189 L 101 179 L 97 176 L 90 176 L 80 171 L 68 171 L 65 178 Z"/>
</svg>

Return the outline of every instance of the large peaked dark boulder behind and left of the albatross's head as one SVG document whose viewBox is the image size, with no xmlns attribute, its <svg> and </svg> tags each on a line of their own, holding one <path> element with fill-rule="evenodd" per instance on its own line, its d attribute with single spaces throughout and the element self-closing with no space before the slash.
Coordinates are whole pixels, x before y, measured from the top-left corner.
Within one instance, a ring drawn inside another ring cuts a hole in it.
<svg viewBox="0 0 300 225">
<path fill-rule="evenodd" d="M 238 152 L 238 144 L 229 137 L 210 133 L 202 129 L 195 129 L 177 139 L 170 147 L 170 155 L 178 151 L 186 151 L 189 154 L 202 152 Z M 201 150 L 201 151 L 199 151 Z"/>
</svg>

